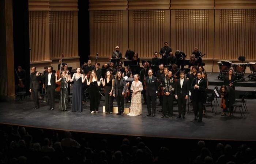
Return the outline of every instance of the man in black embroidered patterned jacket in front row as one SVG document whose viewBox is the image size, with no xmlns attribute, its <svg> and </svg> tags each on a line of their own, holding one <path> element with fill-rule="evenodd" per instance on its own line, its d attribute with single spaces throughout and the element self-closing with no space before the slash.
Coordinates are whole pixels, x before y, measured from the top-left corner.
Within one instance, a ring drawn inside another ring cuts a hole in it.
<svg viewBox="0 0 256 164">
<path fill-rule="evenodd" d="M 173 116 L 173 96 L 175 94 L 175 79 L 172 77 L 172 71 L 168 71 L 167 76 L 162 80 L 163 85 L 163 115 L 172 118 Z"/>
</svg>

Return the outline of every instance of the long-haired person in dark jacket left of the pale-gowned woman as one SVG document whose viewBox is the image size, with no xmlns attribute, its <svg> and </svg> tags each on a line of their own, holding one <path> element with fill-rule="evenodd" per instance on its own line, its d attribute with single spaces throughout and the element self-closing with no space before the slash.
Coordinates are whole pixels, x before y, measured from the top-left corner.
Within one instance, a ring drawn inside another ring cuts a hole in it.
<svg viewBox="0 0 256 164">
<path fill-rule="evenodd" d="M 121 71 L 117 71 L 116 78 L 114 79 L 113 96 L 116 97 L 118 113 L 116 115 L 122 115 L 124 113 L 124 94 L 125 94 L 125 79 L 122 77 Z"/>
</svg>

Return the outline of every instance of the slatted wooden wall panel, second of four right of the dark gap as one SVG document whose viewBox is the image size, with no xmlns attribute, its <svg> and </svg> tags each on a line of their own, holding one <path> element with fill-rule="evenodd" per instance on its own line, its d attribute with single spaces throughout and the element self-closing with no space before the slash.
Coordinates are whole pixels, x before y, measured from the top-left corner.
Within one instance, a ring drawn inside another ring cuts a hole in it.
<svg viewBox="0 0 256 164">
<path fill-rule="evenodd" d="M 129 11 L 129 48 L 140 58 L 152 58 L 165 41 L 169 42 L 169 10 Z"/>
</svg>

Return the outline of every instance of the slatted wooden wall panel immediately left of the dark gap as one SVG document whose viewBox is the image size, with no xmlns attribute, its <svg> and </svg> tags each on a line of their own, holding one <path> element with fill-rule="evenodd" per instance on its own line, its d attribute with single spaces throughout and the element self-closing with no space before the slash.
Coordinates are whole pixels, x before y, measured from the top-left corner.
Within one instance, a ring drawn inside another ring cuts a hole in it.
<svg viewBox="0 0 256 164">
<path fill-rule="evenodd" d="M 77 11 L 50 11 L 50 58 L 78 56 Z"/>
</svg>

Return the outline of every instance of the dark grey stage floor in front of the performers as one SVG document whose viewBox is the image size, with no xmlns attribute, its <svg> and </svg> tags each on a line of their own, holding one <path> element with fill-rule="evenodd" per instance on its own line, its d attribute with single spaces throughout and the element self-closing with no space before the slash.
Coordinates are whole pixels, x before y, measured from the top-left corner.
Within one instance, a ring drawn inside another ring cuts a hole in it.
<svg viewBox="0 0 256 164">
<path fill-rule="evenodd" d="M 102 98 L 104 99 L 104 98 Z M 83 112 L 71 112 L 71 105 L 67 112 L 58 110 L 58 99 L 55 102 L 55 110 L 47 110 L 45 102 L 39 109 L 32 109 L 33 102 L 29 99 L 13 102 L 0 102 L 0 123 L 29 126 L 56 130 L 70 130 L 76 132 L 116 134 L 125 136 L 147 136 L 163 138 L 187 138 L 205 140 L 256 140 L 256 100 L 248 99 L 249 112 L 241 118 L 240 113 L 234 113 L 233 117 L 221 116 L 222 109 L 217 106 L 217 114 L 211 113 L 207 108 L 207 114 L 203 122 L 193 121 L 193 112 L 187 113 L 185 119 L 177 119 L 177 105 L 174 105 L 173 118 L 161 118 L 160 112 L 156 117 L 146 117 L 146 105 L 143 105 L 141 116 L 116 116 L 102 112 L 104 101 L 100 102 L 99 113 L 90 113 L 89 102 L 83 106 Z M 190 107 L 190 110 L 192 106 Z M 215 108 L 214 108 L 215 109 Z M 160 106 L 157 106 L 160 110 Z M 237 111 L 239 112 L 239 110 Z"/>
</svg>

